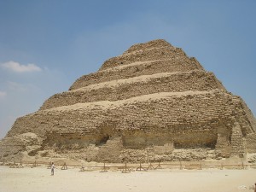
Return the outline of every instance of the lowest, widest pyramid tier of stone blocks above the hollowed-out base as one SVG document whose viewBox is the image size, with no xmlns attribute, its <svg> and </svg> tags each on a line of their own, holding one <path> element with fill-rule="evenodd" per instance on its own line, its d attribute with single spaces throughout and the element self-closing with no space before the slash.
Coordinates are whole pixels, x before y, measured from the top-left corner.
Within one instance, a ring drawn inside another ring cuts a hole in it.
<svg viewBox="0 0 256 192">
<path fill-rule="evenodd" d="M 17 119 L 8 137 L 26 132 L 44 136 L 47 131 L 80 132 L 96 137 L 108 124 L 113 132 L 216 133 L 222 128 L 228 131 L 232 119 L 241 123 L 244 135 L 253 131 L 240 98 L 223 90 L 156 93 L 117 102 L 77 103 L 38 111 Z"/>
</svg>

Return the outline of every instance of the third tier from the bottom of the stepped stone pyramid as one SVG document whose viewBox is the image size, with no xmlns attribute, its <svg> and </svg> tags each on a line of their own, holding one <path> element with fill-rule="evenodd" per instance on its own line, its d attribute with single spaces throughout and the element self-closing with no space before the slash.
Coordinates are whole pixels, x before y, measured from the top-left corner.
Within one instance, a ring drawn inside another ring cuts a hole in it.
<svg viewBox="0 0 256 192">
<path fill-rule="evenodd" d="M 90 84 L 99 84 L 117 79 L 128 79 L 140 75 L 154 73 L 188 72 L 192 70 L 203 70 L 195 58 L 178 58 L 156 61 L 137 61 L 130 65 L 120 65 L 97 73 L 90 73 L 77 79 L 69 90 L 76 90 Z"/>
</svg>

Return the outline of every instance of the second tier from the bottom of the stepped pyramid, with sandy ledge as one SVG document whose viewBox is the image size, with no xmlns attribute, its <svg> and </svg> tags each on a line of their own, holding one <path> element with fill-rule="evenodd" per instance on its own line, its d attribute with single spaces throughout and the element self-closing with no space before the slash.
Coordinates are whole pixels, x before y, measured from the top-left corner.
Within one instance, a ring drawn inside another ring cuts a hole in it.
<svg viewBox="0 0 256 192">
<path fill-rule="evenodd" d="M 40 110 L 73 105 L 75 103 L 117 101 L 157 92 L 186 90 L 225 90 L 213 73 L 190 71 L 183 73 L 155 73 L 130 79 L 119 79 L 55 94 L 46 100 Z"/>
</svg>

